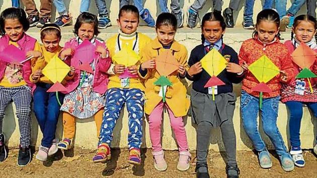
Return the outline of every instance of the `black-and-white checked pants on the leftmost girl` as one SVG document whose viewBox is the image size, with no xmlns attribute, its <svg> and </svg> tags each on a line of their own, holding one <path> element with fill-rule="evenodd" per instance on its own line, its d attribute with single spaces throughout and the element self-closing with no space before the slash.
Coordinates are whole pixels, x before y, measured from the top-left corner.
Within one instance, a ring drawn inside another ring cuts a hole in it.
<svg viewBox="0 0 317 178">
<path fill-rule="evenodd" d="M 19 121 L 20 145 L 27 147 L 31 142 L 31 88 L 27 85 L 17 87 L 0 86 L 0 133 L 2 122 L 6 114 L 6 108 L 11 101 L 17 108 L 16 115 Z"/>
</svg>

